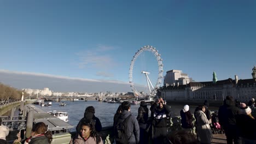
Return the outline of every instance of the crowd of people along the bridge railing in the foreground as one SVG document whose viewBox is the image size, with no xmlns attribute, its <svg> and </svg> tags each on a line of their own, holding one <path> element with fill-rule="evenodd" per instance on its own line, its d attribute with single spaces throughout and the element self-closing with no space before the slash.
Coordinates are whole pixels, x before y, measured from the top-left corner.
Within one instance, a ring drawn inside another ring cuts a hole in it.
<svg viewBox="0 0 256 144">
<path fill-rule="evenodd" d="M 218 122 L 225 131 L 227 143 L 256 143 L 256 120 L 251 115 L 255 101 L 252 99 L 248 106 L 245 103 L 226 97 L 224 104 L 218 110 Z M 212 142 L 212 115 L 209 103 L 205 100 L 203 105 L 196 107 L 194 117 L 189 110 L 189 105 L 184 105 L 181 110 L 181 130 L 170 131 L 170 107 L 166 101 L 159 97 L 150 103 L 150 116 L 147 104 L 141 101 L 137 117 L 131 114 L 129 101 L 123 101 L 119 105 L 113 118 L 113 139 L 110 143 L 172 143 L 172 144 L 196 144 Z M 1 119 L 0 119 L 0 123 Z M 196 133 L 194 133 L 194 128 Z M 76 133 L 70 144 L 102 144 L 100 135 L 101 121 L 95 116 L 93 106 L 85 109 L 84 117 L 80 119 L 76 127 Z M 0 126 L 0 143 L 7 143 L 5 137 L 9 129 Z M 51 131 L 43 122 L 33 125 L 31 136 L 24 141 L 20 134 L 14 144 L 51 143 L 53 137 Z"/>
</svg>

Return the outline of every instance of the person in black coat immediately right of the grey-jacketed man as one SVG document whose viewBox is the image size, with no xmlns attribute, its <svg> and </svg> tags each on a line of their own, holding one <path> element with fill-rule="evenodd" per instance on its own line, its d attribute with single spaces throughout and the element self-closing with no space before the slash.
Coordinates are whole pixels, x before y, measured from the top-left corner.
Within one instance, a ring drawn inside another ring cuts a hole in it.
<svg viewBox="0 0 256 144">
<path fill-rule="evenodd" d="M 146 132 L 148 121 L 148 107 L 145 101 L 141 101 L 141 105 L 138 108 L 137 121 L 139 124 L 139 142 L 148 143 L 148 134 Z"/>
</svg>

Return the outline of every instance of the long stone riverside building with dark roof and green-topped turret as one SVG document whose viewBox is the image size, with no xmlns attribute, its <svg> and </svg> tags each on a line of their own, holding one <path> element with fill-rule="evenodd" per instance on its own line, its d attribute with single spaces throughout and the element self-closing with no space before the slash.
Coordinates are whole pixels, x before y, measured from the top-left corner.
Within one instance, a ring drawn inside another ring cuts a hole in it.
<svg viewBox="0 0 256 144">
<path fill-rule="evenodd" d="M 256 98 L 256 67 L 253 68 L 252 79 L 217 80 L 213 72 L 213 81 L 189 82 L 187 85 L 164 86 L 160 89 L 161 96 L 166 100 L 219 100 L 231 95 L 234 99 L 247 104 L 251 98 Z"/>
</svg>

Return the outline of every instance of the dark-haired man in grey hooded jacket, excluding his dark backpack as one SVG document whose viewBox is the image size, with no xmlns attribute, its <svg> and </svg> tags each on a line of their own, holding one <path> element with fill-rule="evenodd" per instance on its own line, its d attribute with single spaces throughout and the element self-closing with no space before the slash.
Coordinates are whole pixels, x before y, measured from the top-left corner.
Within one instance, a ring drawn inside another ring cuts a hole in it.
<svg viewBox="0 0 256 144">
<path fill-rule="evenodd" d="M 129 137 L 129 143 L 138 144 L 139 143 L 139 125 L 136 117 L 131 115 L 131 112 L 130 112 L 131 105 L 129 101 L 123 101 L 123 103 L 121 103 L 121 108 L 122 108 L 121 110 L 122 113 L 117 119 L 117 124 L 126 121 L 127 125 L 126 125 L 125 135 L 126 137 Z M 114 127 L 115 135 L 118 135 L 117 124 Z M 118 143 L 117 139 L 115 142 Z"/>
</svg>

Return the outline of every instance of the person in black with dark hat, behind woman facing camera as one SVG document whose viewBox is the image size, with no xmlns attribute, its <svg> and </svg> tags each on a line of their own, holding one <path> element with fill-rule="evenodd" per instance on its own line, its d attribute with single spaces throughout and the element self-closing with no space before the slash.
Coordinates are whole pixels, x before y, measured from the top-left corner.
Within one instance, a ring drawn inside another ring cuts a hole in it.
<svg viewBox="0 0 256 144">
<path fill-rule="evenodd" d="M 80 119 L 79 123 L 77 124 L 77 128 L 76 128 L 77 132 L 80 131 L 79 128 L 82 121 L 85 121 L 85 119 L 93 119 L 95 121 L 95 129 L 96 131 L 98 131 L 98 133 L 100 133 L 102 129 L 101 121 L 94 114 L 95 114 L 95 109 L 93 106 L 86 107 L 84 112 L 84 117 Z"/>
</svg>

